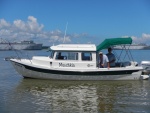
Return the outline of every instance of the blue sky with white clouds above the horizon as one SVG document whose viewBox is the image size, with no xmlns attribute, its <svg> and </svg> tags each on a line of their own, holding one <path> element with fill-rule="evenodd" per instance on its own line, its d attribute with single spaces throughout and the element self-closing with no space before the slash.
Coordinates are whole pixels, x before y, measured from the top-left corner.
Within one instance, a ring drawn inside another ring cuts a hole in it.
<svg viewBox="0 0 150 113">
<path fill-rule="evenodd" d="M 150 44 L 150 0 L 0 0 L 3 40 L 97 45 L 118 37 Z"/>
</svg>

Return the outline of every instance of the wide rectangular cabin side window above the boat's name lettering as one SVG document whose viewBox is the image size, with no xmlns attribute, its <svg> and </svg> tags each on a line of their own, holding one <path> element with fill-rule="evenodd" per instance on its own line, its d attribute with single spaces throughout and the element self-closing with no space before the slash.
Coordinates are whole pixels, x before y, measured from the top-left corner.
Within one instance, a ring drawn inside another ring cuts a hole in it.
<svg viewBox="0 0 150 113">
<path fill-rule="evenodd" d="M 57 60 L 78 60 L 77 52 L 57 52 Z"/>
</svg>

